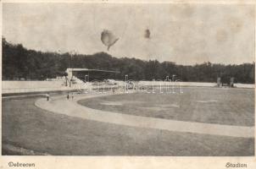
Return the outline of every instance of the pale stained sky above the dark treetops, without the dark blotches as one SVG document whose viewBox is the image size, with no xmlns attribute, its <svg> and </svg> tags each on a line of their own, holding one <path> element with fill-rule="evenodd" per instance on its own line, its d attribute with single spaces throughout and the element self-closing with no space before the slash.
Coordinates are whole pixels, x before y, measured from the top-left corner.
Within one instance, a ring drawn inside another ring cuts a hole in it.
<svg viewBox="0 0 256 169">
<path fill-rule="evenodd" d="M 120 38 L 109 51 L 103 30 Z M 249 4 L 3 3 L 3 36 L 42 52 L 252 63 L 255 11 Z"/>
</svg>

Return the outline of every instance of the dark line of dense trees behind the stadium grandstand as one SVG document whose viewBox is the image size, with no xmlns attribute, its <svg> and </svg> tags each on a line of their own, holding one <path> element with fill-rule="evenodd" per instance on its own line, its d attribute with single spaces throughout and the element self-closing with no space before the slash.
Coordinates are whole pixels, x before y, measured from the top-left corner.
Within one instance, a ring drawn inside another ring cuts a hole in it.
<svg viewBox="0 0 256 169">
<path fill-rule="evenodd" d="M 236 83 L 254 83 L 254 62 L 239 65 L 209 62 L 179 65 L 167 61 L 160 63 L 158 60 L 117 58 L 105 52 L 73 54 L 71 57 L 69 52 L 40 52 L 26 49 L 21 44 L 12 44 L 4 38 L 2 41 L 3 80 L 45 80 L 66 75 L 66 68 L 94 68 L 119 71 L 116 79 L 124 79 L 125 74 L 128 74 L 129 79 L 133 80 L 164 80 L 166 76 L 175 74 L 181 81 L 216 82 L 217 77 L 234 77 Z"/>
</svg>

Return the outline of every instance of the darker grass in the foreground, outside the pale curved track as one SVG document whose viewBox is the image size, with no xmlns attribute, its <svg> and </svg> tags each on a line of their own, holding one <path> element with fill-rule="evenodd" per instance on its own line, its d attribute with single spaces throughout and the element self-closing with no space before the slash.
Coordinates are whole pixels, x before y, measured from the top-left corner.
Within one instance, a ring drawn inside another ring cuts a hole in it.
<svg viewBox="0 0 256 169">
<path fill-rule="evenodd" d="M 3 155 L 253 155 L 254 139 L 99 123 L 3 101 Z M 14 146 L 19 152 L 9 147 Z M 33 153 L 28 153 L 28 152 Z"/>
</svg>

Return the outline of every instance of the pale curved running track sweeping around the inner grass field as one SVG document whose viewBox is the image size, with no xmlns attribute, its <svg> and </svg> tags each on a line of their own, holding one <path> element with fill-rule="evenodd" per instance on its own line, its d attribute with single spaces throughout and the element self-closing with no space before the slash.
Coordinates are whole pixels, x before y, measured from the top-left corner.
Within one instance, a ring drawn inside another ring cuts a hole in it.
<svg viewBox="0 0 256 169">
<path fill-rule="evenodd" d="M 212 123 L 184 122 L 155 117 L 139 117 L 116 112 L 106 112 L 81 106 L 77 101 L 96 96 L 109 94 L 75 95 L 73 101 L 67 101 L 65 96 L 53 97 L 52 101 L 45 98 L 39 99 L 35 105 L 50 112 L 65 114 L 71 117 L 81 117 L 103 123 L 114 123 L 138 128 L 156 128 L 174 132 L 186 132 L 194 134 L 213 134 L 231 137 L 253 138 L 254 127 L 230 126 Z"/>
</svg>

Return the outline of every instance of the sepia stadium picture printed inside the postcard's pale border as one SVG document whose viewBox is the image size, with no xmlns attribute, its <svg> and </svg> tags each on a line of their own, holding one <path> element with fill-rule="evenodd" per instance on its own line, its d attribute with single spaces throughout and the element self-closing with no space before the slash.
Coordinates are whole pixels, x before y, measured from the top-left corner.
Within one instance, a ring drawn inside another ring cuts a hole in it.
<svg viewBox="0 0 256 169">
<path fill-rule="evenodd" d="M 254 156 L 254 87 L 255 4 L 2 3 L 3 156 Z"/>
</svg>

